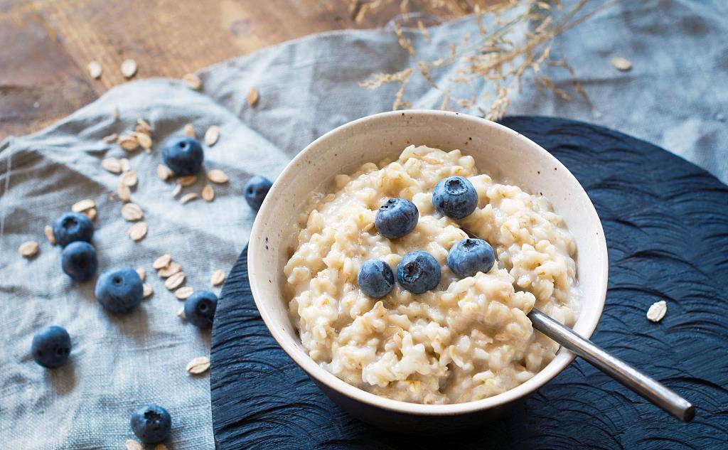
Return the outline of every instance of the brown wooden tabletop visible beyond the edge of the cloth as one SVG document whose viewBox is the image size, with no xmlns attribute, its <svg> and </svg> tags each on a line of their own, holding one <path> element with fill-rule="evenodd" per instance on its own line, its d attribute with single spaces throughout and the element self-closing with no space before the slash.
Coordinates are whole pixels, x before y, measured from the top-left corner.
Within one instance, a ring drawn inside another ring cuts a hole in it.
<svg viewBox="0 0 728 450">
<path fill-rule="evenodd" d="M 460 2 L 454 2 L 460 3 Z M 135 78 L 181 77 L 318 31 L 384 25 L 399 1 L 352 20 L 349 0 L 0 0 L 0 139 L 50 125 Z M 468 12 L 467 3 L 455 14 Z M 430 7 L 413 11 L 443 14 Z M 449 12 L 448 12 L 449 13 Z M 92 79 L 87 64 L 103 68 Z"/>
</svg>

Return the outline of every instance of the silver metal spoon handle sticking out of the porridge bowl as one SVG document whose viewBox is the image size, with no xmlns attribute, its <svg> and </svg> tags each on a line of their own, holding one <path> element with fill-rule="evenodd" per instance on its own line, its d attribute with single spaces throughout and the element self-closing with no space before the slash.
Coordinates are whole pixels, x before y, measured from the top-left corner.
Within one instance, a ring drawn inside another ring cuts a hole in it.
<svg viewBox="0 0 728 450">
<path fill-rule="evenodd" d="M 690 422 L 695 417 L 695 406 L 692 406 L 689 401 L 628 363 L 609 355 L 590 340 L 579 336 L 571 328 L 561 325 L 538 309 L 531 309 L 529 319 L 538 331 L 678 419 Z"/>
</svg>

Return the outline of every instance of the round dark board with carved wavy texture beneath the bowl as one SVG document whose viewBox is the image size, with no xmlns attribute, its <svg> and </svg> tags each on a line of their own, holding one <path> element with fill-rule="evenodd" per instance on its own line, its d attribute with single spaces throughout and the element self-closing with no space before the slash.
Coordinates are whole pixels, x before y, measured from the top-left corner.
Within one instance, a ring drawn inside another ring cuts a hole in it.
<svg viewBox="0 0 728 450">
<path fill-rule="evenodd" d="M 569 167 L 604 224 L 609 291 L 593 340 L 691 400 L 695 420 L 668 417 L 577 360 L 472 432 L 386 433 L 341 411 L 278 347 L 250 296 L 243 251 L 213 328 L 210 384 L 221 449 L 728 448 L 728 186 L 602 127 L 545 117 L 502 123 Z M 649 323 L 647 308 L 662 299 L 667 315 Z"/>
</svg>

